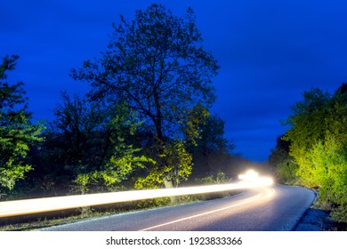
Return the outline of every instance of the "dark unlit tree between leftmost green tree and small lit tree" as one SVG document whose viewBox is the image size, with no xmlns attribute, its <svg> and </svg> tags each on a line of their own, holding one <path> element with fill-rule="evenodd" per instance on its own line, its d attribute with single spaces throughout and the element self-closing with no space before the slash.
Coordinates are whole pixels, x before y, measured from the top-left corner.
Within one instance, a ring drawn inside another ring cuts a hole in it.
<svg viewBox="0 0 347 249">
<path fill-rule="evenodd" d="M 84 97 L 61 93 L 61 101 L 53 110 L 54 119 L 44 130 L 45 140 L 40 150 L 29 158 L 34 171 L 28 173 L 26 187 L 36 193 L 69 191 L 79 173 L 95 170 L 106 157 L 106 135 L 103 133 L 103 112 Z"/>
</svg>

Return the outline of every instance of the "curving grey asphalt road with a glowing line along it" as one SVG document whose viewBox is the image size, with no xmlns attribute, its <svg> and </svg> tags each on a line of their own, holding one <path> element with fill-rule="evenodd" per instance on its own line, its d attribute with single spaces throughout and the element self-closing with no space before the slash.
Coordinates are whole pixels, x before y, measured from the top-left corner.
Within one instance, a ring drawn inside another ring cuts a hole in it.
<svg viewBox="0 0 347 249">
<path fill-rule="evenodd" d="M 310 189 L 278 185 L 189 205 L 110 215 L 43 230 L 288 231 L 310 207 Z"/>
</svg>

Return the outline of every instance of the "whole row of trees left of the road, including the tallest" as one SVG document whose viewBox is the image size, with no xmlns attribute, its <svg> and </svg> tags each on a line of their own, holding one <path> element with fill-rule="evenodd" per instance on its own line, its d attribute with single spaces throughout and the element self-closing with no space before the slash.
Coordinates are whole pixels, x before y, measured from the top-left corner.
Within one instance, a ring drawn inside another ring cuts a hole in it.
<svg viewBox="0 0 347 249">
<path fill-rule="evenodd" d="M 4 57 L 2 197 L 221 182 L 249 164 L 231 156 L 224 122 L 209 111 L 219 65 L 204 49 L 192 10 L 181 18 L 152 4 L 113 28 L 101 58 L 71 71 L 90 92 L 62 92 L 52 122 L 32 122 L 23 83 L 7 82 L 18 56 Z"/>
</svg>

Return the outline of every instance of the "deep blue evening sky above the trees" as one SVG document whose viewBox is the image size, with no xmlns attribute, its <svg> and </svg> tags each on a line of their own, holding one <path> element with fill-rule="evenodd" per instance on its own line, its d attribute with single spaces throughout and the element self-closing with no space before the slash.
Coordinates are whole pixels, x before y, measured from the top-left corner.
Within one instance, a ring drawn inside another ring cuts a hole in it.
<svg viewBox="0 0 347 249">
<path fill-rule="evenodd" d="M 0 57 L 20 55 L 10 79 L 25 83 L 35 118 L 52 119 L 61 91 L 85 92 L 71 68 L 105 51 L 119 14 L 133 19 L 152 3 L 196 13 L 206 50 L 221 65 L 213 111 L 247 159 L 268 159 L 287 128 L 279 120 L 303 91 L 333 92 L 347 81 L 345 0 L 2 0 Z"/>
</svg>

